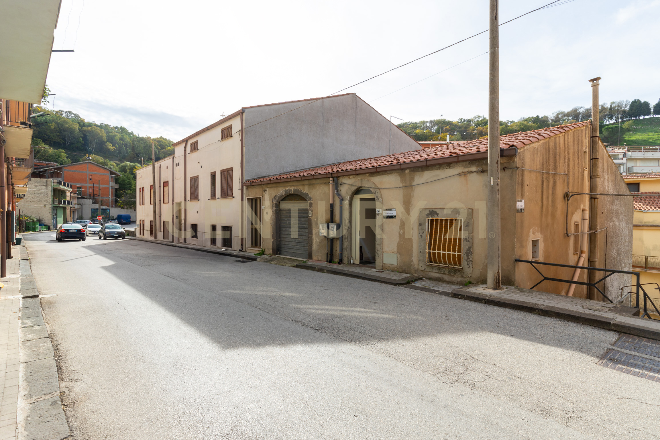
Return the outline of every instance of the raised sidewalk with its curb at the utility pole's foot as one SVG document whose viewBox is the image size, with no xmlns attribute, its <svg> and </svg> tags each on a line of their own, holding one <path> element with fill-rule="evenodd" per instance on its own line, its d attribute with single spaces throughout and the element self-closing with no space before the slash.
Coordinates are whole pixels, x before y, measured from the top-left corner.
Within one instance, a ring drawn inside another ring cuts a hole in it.
<svg viewBox="0 0 660 440">
<path fill-rule="evenodd" d="M 502 290 L 490 290 L 485 285 L 461 288 L 442 282 L 420 280 L 405 287 L 660 340 L 660 321 L 634 316 L 639 312 L 635 307 L 512 286 L 504 286 Z"/>
</svg>

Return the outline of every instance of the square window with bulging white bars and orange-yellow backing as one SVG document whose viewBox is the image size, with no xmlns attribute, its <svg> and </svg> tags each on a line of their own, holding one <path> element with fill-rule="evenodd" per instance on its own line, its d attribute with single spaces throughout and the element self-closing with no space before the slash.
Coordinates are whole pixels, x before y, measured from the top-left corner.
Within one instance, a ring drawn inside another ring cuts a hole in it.
<svg viewBox="0 0 660 440">
<path fill-rule="evenodd" d="M 426 263 L 463 267 L 463 219 L 426 219 Z"/>
</svg>

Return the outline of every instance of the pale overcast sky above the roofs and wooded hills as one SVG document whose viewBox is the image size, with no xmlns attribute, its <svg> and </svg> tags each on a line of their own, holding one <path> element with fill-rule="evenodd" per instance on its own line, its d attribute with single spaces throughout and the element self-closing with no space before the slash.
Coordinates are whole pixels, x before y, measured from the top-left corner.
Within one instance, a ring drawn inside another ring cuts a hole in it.
<svg viewBox="0 0 660 440">
<path fill-rule="evenodd" d="M 500 22 L 550 1 L 501 0 Z M 574 0 L 501 26 L 501 118 L 590 106 L 593 77 L 601 102 L 652 106 L 659 16 L 660 0 Z M 48 86 L 55 109 L 178 141 L 242 106 L 326 96 L 487 28 L 488 0 L 63 0 L 53 49 L 75 52 L 53 53 Z M 485 115 L 487 50 L 488 33 L 347 92 L 406 121 Z"/>
</svg>

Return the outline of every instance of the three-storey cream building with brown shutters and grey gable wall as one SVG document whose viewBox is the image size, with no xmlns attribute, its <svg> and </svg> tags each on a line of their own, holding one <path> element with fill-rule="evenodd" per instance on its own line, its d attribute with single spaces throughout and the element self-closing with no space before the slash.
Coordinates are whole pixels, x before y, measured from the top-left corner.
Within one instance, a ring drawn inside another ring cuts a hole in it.
<svg viewBox="0 0 660 440">
<path fill-rule="evenodd" d="M 136 171 L 136 234 L 258 250 L 261 201 L 246 199 L 246 179 L 419 148 L 352 93 L 244 107 Z"/>
</svg>

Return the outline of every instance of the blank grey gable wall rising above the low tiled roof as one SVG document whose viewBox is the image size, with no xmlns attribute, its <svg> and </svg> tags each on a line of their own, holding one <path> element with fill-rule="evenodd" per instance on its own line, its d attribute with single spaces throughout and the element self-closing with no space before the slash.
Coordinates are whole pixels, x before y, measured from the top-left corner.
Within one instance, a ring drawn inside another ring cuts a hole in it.
<svg viewBox="0 0 660 440">
<path fill-rule="evenodd" d="M 246 180 L 421 148 L 356 94 L 246 108 L 244 118 Z"/>
</svg>

